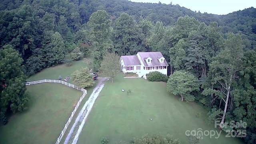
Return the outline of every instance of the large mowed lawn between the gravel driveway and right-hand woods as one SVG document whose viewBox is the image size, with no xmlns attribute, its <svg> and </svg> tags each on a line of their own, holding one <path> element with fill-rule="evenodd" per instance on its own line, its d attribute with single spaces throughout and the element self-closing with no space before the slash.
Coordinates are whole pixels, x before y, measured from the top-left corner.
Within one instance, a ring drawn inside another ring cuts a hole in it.
<svg viewBox="0 0 256 144">
<path fill-rule="evenodd" d="M 125 92 L 122 92 L 122 89 Z M 132 90 L 130 97 L 126 93 Z M 199 118 L 196 114 L 202 112 Z M 99 144 L 107 137 L 110 144 L 120 140 L 130 142 L 144 134 L 166 134 L 188 144 L 186 130 L 202 128 L 218 130 L 205 123 L 206 111 L 194 102 L 181 102 L 178 96 L 166 92 L 166 83 L 148 82 L 142 78 L 122 78 L 107 81 L 100 92 L 77 144 Z M 152 118 L 153 120 L 150 120 Z M 219 130 L 218 130 L 219 131 Z M 239 139 L 204 136 L 201 144 L 242 144 Z"/>
</svg>

